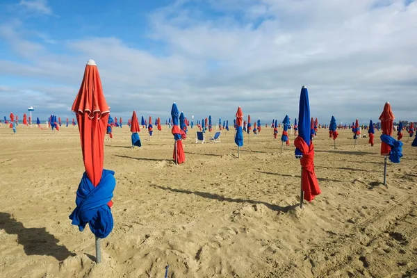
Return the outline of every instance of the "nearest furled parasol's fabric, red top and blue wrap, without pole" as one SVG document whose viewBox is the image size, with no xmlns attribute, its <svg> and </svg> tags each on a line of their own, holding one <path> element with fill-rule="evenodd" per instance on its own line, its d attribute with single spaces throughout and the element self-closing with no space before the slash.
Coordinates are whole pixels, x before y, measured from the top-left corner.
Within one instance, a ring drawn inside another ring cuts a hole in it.
<svg viewBox="0 0 417 278">
<path fill-rule="evenodd" d="M 89 60 L 72 111 L 76 113 L 85 172 L 76 195 L 76 208 L 70 215 L 80 231 L 88 223 L 98 238 L 106 238 L 113 229 L 111 206 L 116 185 L 114 172 L 104 170 L 104 136 L 109 107 L 101 88 L 97 65 Z"/>
</svg>

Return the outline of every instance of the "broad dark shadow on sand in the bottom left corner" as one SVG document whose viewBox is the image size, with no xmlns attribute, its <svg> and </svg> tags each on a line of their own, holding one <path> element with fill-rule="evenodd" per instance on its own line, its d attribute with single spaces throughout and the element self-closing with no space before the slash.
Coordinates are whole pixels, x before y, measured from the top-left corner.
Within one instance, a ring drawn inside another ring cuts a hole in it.
<svg viewBox="0 0 417 278">
<path fill-rule="evenodd" d="M 7 234 L 17 235 L 17 243 L 23 245 L 28 256 L 53 256 L 58 261 L 75 256 L 67 247 L 58 245 L 59 240 L 49 234 L 46 228 L 25 228 L 23 223 L 12 218 L 10 213 L 0 213 L 0 229 L 4 229 Z"/>
</svg>

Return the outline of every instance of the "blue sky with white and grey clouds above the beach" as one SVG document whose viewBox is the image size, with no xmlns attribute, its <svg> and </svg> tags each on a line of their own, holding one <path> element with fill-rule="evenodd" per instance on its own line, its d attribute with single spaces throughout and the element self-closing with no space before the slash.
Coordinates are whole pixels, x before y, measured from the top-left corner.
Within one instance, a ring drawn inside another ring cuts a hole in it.
<svg viewBox="0 0 417 278">
<path fill-rule="evenodd" d="M 2 0 L 0 115 L 73 117 L 95 60 L 111 115 L 417 121 L 413 0 Z M 215 120 L 215 122 L 218 120 Z"/>
</svg>

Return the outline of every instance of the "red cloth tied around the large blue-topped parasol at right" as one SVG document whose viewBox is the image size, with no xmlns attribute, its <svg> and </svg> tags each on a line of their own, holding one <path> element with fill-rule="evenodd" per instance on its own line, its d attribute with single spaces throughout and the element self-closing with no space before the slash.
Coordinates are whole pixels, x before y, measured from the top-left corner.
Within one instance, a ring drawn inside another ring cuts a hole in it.
<svg viewBox="0 0 417 278">
<path fill-rule="evenodd" d="M 308 146 L 300 136 L 295 138 L 294 145 L 302 152 L 300 163 L 302 166 L 302 190 L 304 191 L 304 199 L 311 202 L 314 197 L 321 193 L 316 173 L 314 172 L 314 145 L 313 142 L 310 142 L 310 146 Z"/>
</svg>

